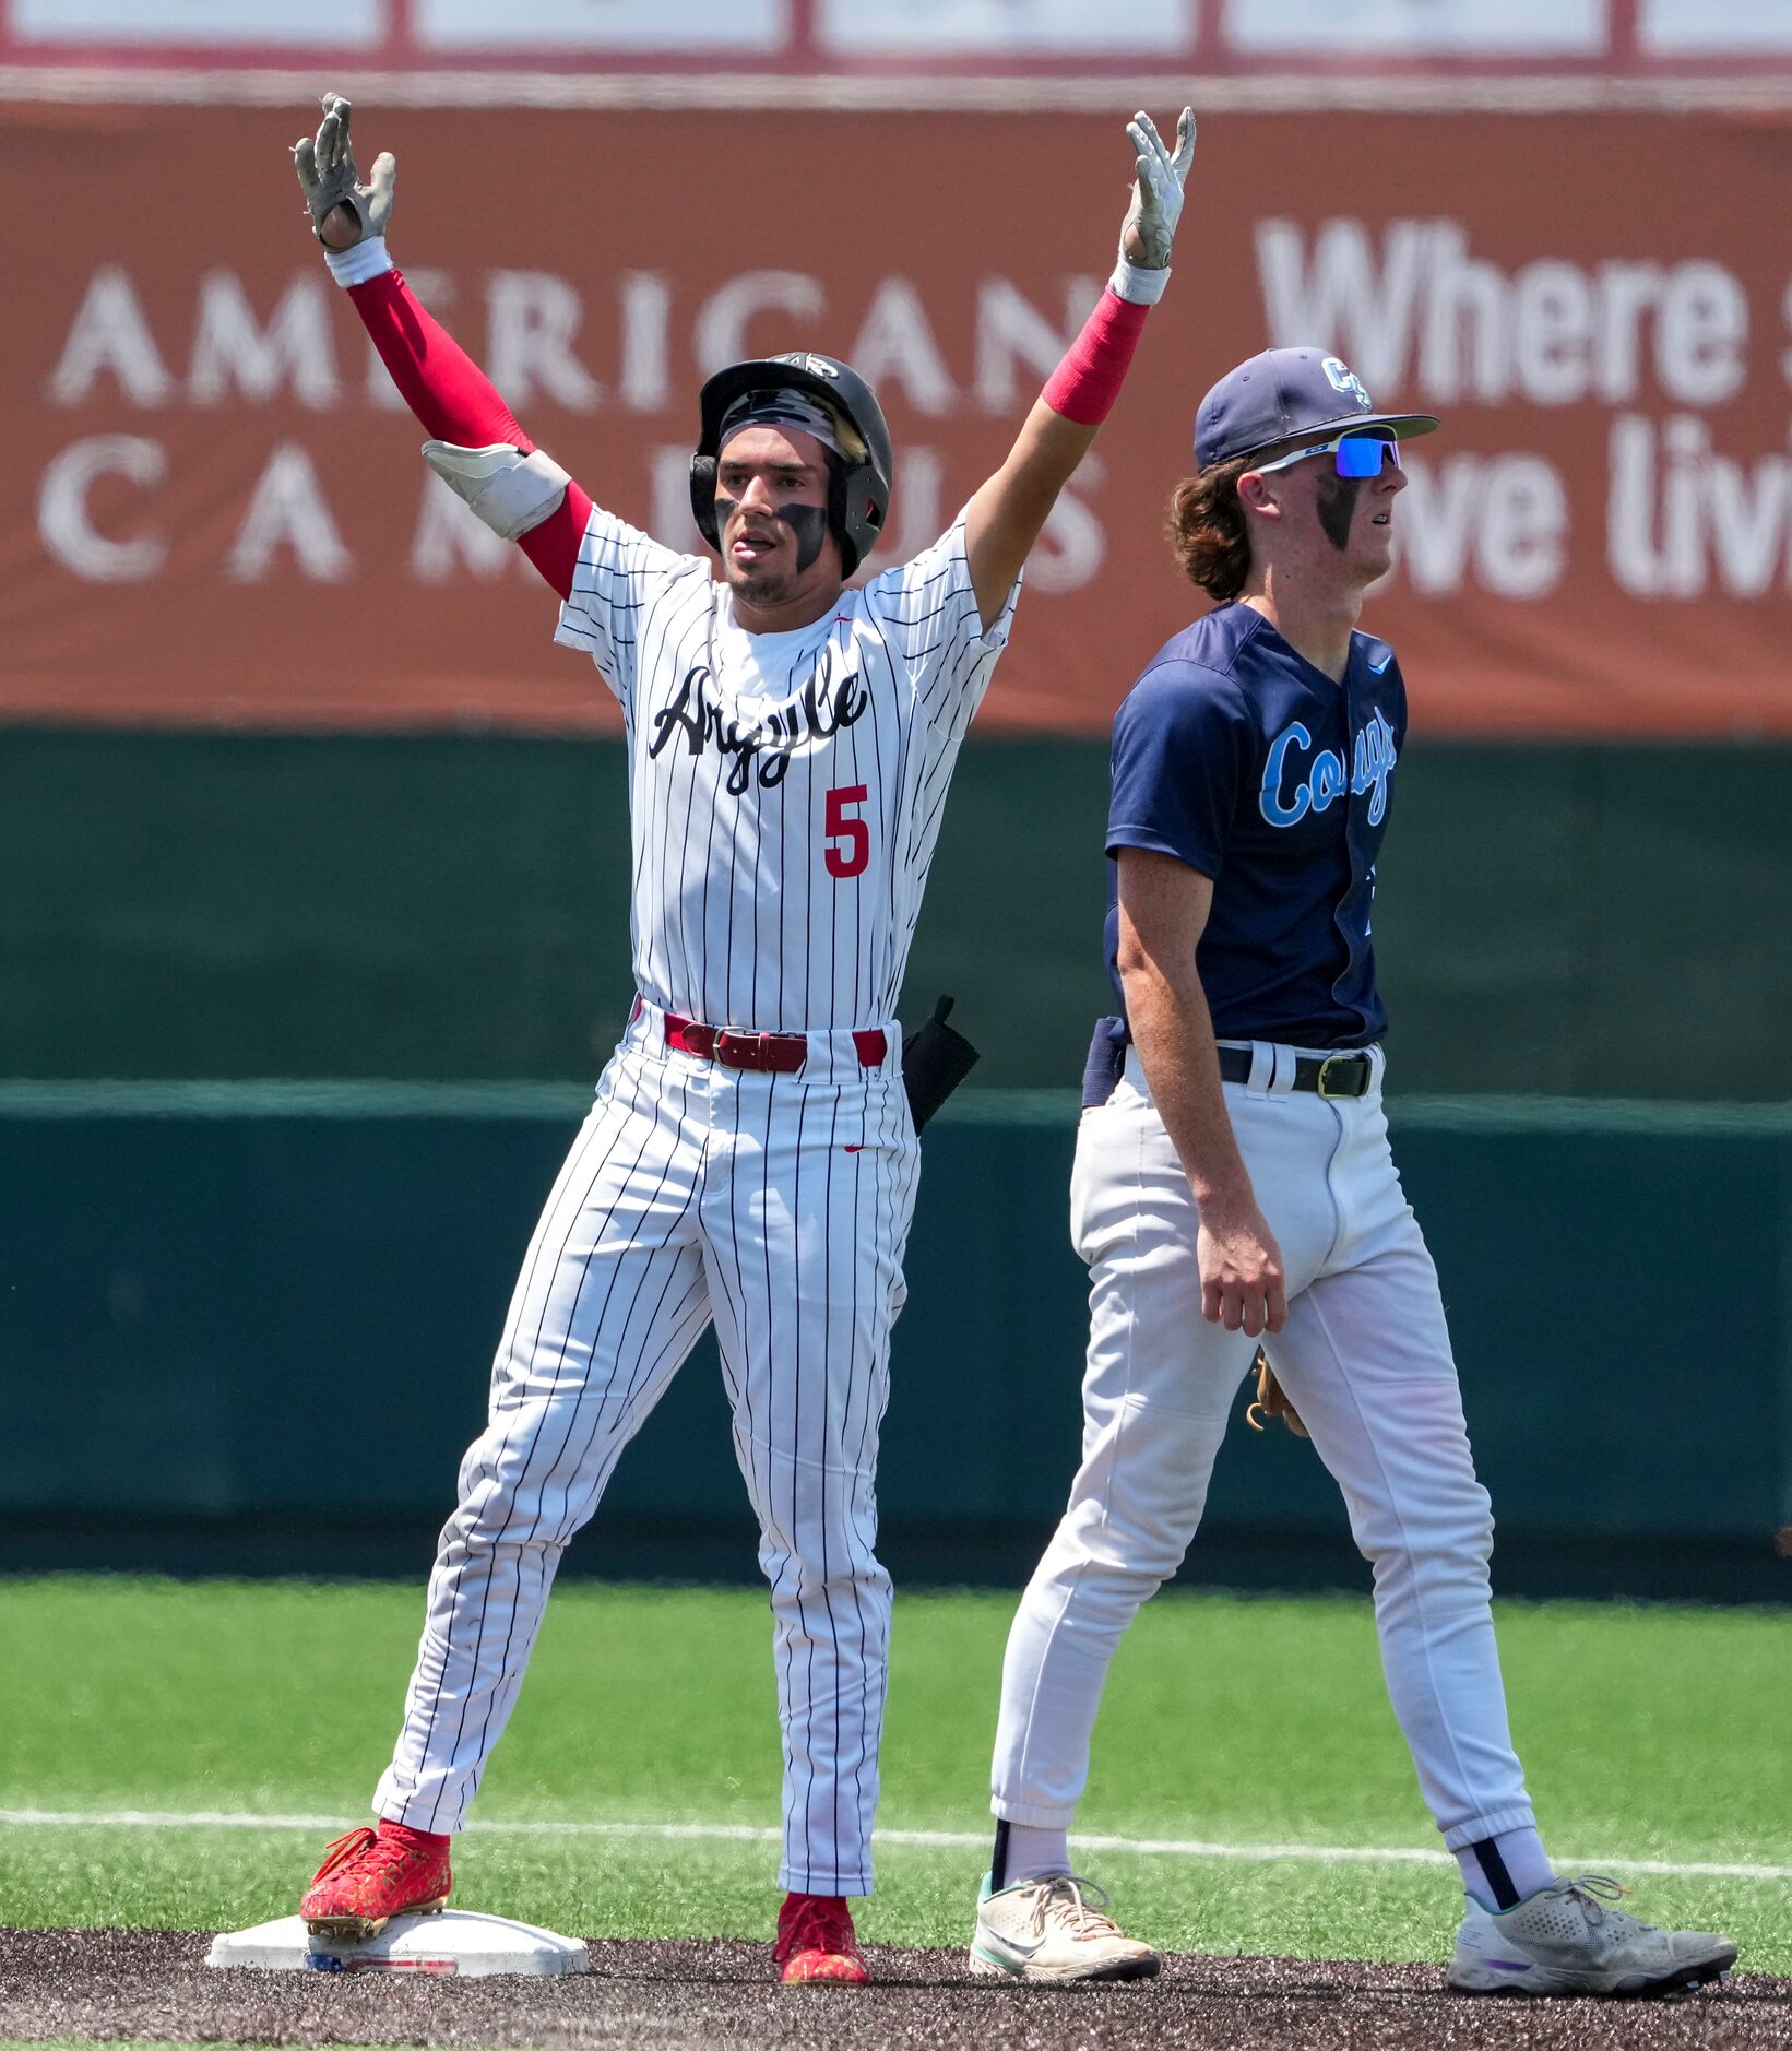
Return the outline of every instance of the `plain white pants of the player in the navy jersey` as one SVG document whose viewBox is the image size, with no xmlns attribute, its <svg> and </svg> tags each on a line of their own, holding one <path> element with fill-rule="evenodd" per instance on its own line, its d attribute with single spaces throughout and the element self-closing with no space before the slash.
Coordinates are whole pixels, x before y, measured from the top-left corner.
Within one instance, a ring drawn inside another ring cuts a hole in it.
<svg viewBox="0 0 1792 2051">
<path fill-rule="evenodd" d="M 1224 1085 L 1288 1278 L 1288 1325 L 1265 1348 L 1374 1565 L 1388 1694 L 1458 1850 L 1532 1823 L 1489 1608 L 1493 1516 L 1388 1151 L 1382 1056 L 1370 1095 L 1327 1101 L 1288 1089 L 1292 1052 L 1259 1044 L 1251 1083 Z M 992 1801 L 1054 1829 L 1089 1778 L 1107 1661 L 1202 1522 L 1257 1354 L 1202 1317 L 1195 1202 L 1132 1048 L 1113 1097 L 1083 1114 L 1070 1224 L 1091 1270 L 1083 1466 L 1009 1635 Z"/>
</svg>

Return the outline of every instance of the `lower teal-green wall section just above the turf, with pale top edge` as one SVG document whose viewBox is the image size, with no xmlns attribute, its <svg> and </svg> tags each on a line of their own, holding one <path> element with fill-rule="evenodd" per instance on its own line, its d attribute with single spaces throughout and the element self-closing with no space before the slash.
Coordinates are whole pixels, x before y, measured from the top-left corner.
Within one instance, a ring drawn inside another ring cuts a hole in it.
<svg viewBox="0 0 1792 2051">
<path fill-rule="evenodd" d="M 281 1565 L 340 1571 L 388 1563 L 357 1536 L 383 1524 L 420 1571 L 582 1101 L 0 1087 L 0 1567 L 129 1565 L 178 1526 L 213 1534 L 213 1567 L 279 1540 Z M 1019 1571 L 1074 1464 L 1074 1118 L 1062 1091 L 964 1091 L 927 1134 L 882 1497 L 892 1551 L 949 1579 Z M 1648 1559 L 1724 1592 L 1747 1561 L 1751 1596 L 1792 1596 L 1771 1549 L 1792 1522 L 1792 1112 L 1409 1095 L 1392 1120 L 1517 1563 L 1501 1585 L 1603 1561 L 1593 1583 L 1626 1587 Z M 711 1573 L 711 1540 L 750 1571 L 705 1341 L 574 1559 Z M 1359 1571 L 1281 1432 L 1234 1427 L 1195 1571 L 1226 1577 L 1228 1544 Z"/>
</svg>

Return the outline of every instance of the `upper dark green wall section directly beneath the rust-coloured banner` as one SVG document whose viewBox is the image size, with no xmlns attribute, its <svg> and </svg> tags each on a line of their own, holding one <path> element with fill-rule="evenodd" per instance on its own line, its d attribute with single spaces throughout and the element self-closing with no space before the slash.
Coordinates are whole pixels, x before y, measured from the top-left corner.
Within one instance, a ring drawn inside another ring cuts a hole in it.
<svg viewBox="0 0 1792 2051">
<path fill-rule="evenodd" d="M 1407 1091 L 1788 1099 L 1792 749 L 1443 747 L 1376 939 Z M 1099 742 L 970 740 L 904 1009 L 1068 1085 Z M 0 732 L 0 1075 L 590 1079 L 629 999 L 617 742 Z"/>
</svg>

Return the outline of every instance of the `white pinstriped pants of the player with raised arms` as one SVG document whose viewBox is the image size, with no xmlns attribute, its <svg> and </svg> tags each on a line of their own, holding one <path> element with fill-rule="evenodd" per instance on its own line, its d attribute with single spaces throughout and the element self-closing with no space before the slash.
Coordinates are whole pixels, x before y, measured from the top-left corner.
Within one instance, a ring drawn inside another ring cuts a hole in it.
<svg viewBox="0 0 1792 2051">
<path fill-rule="evenodd" d="M 381 1817 L 461 1825 L 560 1555 L 714 1317 L 771 1583 L 779 1881 L 871 1891 L 890 1647 L 873 1483 L 921 1169 L 886 1036 L 878 1069 L 841 1032 L 810 1034 L 800 1075 L 755 1075 L 666 1052 L 650 1007 L 629 1026 L 523 1261 Z"/>
</svg>

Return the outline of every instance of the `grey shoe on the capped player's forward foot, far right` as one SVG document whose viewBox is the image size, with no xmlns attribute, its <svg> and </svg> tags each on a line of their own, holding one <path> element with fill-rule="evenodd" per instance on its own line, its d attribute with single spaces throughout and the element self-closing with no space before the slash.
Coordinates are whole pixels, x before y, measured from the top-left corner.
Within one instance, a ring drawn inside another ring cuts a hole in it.
<svg viewBox="0 0 1792 2051">
<path fill-rule="evenodd" d="M 1626 1889 L 1583 1873 L 1495 1914 L 1472 1895 L 1456 1934 L 1452 1994 L 1692 1994 L 1737 1963 L 1726 1936 L 1657 1930 L 1612 1907 Z"/>
</svg>

